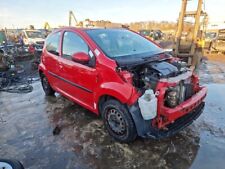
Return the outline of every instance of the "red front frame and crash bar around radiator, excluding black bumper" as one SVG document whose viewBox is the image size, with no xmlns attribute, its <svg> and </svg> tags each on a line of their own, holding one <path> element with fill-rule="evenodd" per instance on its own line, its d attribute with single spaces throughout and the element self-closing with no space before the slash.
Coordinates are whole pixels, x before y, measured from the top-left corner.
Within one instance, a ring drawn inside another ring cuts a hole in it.
<svg viewBox="0 0 225 169">
<path fill-rule="evenodd" d="M 177 119 L 204 107 L 207 89 L 199 86 L 198 77 L 188 71 L 177 77 L 161 79 L 156 87 L 157 117 L 153 126 L 166 128 Z"/>
</svg>

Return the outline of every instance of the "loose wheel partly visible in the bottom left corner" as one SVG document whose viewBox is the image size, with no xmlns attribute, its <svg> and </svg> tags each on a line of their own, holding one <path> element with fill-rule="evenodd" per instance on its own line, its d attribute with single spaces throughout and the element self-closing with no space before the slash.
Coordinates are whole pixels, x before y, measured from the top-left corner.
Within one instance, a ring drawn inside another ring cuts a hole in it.
<svg viewBox="0 0 225 169">
<path fill-rule="evenodd" d="M 24 169 L 23 165 L 17 160 L 0 159 L 0 168 L 5 169 Z"/>
</svg>

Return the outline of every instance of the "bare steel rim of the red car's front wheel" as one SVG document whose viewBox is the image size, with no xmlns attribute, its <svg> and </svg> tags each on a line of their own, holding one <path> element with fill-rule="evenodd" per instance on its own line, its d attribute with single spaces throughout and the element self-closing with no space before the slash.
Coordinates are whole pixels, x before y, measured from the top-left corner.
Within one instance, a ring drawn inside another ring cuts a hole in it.
<svg viewBox="0 0 225 169">
<path fill-rule="evenodd" d="M 107 121 L 113 132 L 119 135 L 123 135 L 125 133 L 126 124 L 120 111 L 116 109 L 109 109 L 107 112 Z"/>
</svg>

